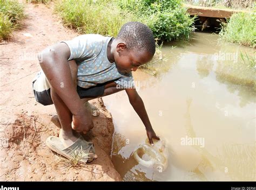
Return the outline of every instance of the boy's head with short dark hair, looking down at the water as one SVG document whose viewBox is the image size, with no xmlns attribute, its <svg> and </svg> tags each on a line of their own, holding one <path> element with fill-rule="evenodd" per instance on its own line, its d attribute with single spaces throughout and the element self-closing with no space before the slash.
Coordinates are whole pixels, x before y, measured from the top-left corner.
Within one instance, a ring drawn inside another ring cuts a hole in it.
<svg viewBox="0 0 256 190">
<path fill-rule="evenodd" d="M 118 71 L 124 73 L 136 71 L 140 65 L 149 62 L 156 51 L 152 31 L 139 22 L 124 24 L 115 41 L 114 61 Z"/>
</svg>

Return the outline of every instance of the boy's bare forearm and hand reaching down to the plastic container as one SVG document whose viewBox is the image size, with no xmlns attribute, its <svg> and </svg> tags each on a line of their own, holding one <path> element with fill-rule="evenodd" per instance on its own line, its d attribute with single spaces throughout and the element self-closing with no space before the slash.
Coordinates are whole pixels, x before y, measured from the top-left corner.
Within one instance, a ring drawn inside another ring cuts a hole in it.
<svg viewBox="0 0 256 190">
<path fill-rule="evenodd" d="M 137 112 L 140 119 L 142 119 L 142 122 L 146 128 L 147 137 L 149 137 L 150 144 L 153 145 L 152 139 L 155 138 L 159 140 L 159 137 L 156 136 L 156 133 L 152 128 L 152 125 L 150 123 L 149 116 L 147 116 L 147 112 L 146 112 L 142 98 L 138 95 L 135 88 L 127 88 L 125 89 L 125 91 L 129 97 L 129 101 L 132 107 Z"/>
</svg>

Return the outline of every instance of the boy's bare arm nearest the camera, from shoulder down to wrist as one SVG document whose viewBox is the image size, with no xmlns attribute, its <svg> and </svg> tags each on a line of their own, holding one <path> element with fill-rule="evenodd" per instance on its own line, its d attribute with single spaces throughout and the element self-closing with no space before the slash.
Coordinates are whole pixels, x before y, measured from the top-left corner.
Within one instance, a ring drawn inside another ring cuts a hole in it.
<svg viewBox="0 0 256 190">
<path fill-rule="evenodd" d="M 62 98 L 65 105 L 82 124 L 79 124 L 79 130 L 85 129 L 89 118 L 84 117 L 86 112 L 83 103 L 73 85 L 71 71 L 68 64 L 70 57 L 70 48 L 65 43 L 59 43 L 51 47 L 45 48 L 38 54 L 38 60 L 43 72 L 48 79 L 51 87 Z M 89 121 L 88 121 L 89 119 Z M 80 123 L 80 122 L 79 122 Z M 84 130 L 82 130 L 84 131 Z"/>
</svg>

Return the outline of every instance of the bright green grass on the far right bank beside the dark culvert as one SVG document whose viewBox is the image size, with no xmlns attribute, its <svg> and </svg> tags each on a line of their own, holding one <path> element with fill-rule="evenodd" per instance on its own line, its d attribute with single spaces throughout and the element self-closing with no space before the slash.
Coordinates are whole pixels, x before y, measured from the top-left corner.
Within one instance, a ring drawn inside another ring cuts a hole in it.
<svg viewBox="0 0 256 190">
<path fill-rule="evenodd" d="M 236 13 L 227 24 L 223 24 L 220 37 L 231 43 L 256 47 L 256 11 L 251 13 Z"/>
</svg>

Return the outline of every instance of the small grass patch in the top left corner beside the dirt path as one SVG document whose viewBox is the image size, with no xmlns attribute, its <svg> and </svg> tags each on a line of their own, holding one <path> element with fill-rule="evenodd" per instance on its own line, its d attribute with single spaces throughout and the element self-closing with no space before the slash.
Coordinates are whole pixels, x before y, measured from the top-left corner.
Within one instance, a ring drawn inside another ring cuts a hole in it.
<svg viewBox="0 0 256 190">
<path fill-rule="evenodd" d="M 17 1 L 0 0 L 0 40 L 8 39 L 13 30 L 21 27 L 24 18 L 22 4 Z"/>
</svg>

